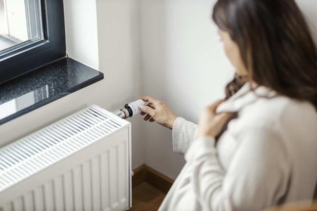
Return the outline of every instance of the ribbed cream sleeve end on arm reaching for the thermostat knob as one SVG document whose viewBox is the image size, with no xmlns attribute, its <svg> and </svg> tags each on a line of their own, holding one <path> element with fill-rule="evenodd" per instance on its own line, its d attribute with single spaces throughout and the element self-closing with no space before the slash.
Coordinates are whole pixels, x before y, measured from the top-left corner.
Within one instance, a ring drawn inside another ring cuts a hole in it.
<svg viewBox="0 0 317 211">
<path fill-rule="evenodd" d="M 173 151 L 185 154 L 190 144 L 195 140 L 198 125 L 178 117 L 173 125 Z"/>
</svg>

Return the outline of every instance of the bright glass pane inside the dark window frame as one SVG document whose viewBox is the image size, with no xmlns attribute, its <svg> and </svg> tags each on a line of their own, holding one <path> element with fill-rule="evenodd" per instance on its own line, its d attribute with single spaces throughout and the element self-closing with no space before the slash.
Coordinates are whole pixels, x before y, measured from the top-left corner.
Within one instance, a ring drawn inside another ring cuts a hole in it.
<svg viewBox="0 0 317 211">
<path fill-rule="evenodd" d="M 43 40 L 40 0 L 0 0 L 0 56 Z"/>
</svg>

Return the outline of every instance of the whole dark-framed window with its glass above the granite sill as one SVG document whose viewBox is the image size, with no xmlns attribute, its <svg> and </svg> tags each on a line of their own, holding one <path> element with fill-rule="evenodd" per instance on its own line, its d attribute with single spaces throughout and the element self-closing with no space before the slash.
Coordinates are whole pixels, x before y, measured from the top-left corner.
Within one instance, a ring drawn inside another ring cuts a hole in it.
<svg viewBox="0 0 317 211">
<path fill-rule="evenodd" d="M 0 83 L 65 55 L 62 0 L 0 0 Z"/>
</svg>

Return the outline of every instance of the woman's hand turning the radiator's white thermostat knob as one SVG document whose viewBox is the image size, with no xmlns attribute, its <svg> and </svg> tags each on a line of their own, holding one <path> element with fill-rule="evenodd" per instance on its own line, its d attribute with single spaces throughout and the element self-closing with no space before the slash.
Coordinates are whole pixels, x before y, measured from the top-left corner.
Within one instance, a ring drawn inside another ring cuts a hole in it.
<svg viewBox="0 0 317 211">
<path fill-rule="evenodd" d="M 152 96 L 143 96 L 139 99 L 143 101 L 148 101 L 149 104 L 147 106 L 140 106 L 140 109 L 143 111 L 141 115 L 145 115 L 144 120 L 149 120 L 150 122 L 156 121 L 158 124 L 167 127 L 169 129 L 173 129 L 174 122 L 177 118 L 166 105 L 162 103 L 158 99 Z"/>
</svg>

